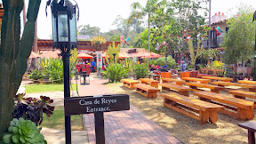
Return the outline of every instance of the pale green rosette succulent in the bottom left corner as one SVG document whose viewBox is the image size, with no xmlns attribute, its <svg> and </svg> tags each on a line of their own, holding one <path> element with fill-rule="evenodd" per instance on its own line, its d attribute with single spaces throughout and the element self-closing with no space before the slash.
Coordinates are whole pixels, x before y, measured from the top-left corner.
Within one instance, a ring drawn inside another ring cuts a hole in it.
<svg viewBox="0 0 256 144">
<path fill-rule="evenodd" d="M 4 135 L 4 143 L 26 143 L 26 144 L 44 144 L 44 135 L 40 133 L 41 129 L 36 124 L 23 118 L 13 118 L 8 134 Z"/>
</svg>

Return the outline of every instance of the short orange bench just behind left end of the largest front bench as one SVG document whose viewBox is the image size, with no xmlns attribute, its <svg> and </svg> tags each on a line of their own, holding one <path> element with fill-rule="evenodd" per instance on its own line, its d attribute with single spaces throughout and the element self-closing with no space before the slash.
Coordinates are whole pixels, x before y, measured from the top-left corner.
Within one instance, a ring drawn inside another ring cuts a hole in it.
<svg viewBox="0 0 256 144">
<path fill-rule="evenodd" d="M 181 95 L 185 95 L 185 96 L 189 96 L 189 91 L 192 91 L 191 88 L 188 87 L 184 87 L 184 86 L 180 86 L 180 85 L 176 85 L 176 84 L 159 84 L 160 86 L 162 86 L 162 91 L 172 91 L 172 92 L 176 92 L 178 91 L 179 94 Z M 175 90 L 175 91 L 173 91 Z"/>
</svg>

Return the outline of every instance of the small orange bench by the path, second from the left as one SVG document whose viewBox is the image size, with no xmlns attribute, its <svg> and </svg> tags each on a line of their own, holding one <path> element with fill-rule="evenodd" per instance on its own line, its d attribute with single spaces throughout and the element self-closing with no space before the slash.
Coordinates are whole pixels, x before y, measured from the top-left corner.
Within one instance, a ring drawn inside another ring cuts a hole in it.
<svg viewBox="0 0 256 144">
<path fill-rule="evenodd" d="M 135 84 L 136 92 L 145 96 L 146 98 L 156 98 L 157 92 L 160 92 L 159 89 L 152 87 L 148 84 Z"/>
</svg>

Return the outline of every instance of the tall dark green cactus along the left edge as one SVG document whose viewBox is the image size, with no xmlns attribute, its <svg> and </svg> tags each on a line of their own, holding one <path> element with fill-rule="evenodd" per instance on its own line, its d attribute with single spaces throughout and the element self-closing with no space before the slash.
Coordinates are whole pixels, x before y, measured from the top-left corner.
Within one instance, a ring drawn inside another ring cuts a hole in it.
<svg viewBox="0 0 256 144">
<path fill-rule="evenodd" d="M 3 0 L 0 48 L 0 137 L 12 120 L 13 97 L 19 89 L 32 50 L 35 21 L 41 0 L 29 0 L 27 22 L 20 38 L 20 12 L 23 0 Z"/>
</svg>

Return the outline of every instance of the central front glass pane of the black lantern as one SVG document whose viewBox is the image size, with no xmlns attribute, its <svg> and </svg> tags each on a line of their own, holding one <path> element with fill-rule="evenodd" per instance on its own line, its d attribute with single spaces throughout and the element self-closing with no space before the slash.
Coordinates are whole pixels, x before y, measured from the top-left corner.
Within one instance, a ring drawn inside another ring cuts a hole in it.
<svg viewBox="0 0 256 144">
<path fill-rule="evenodd" d="M 68 13 L 58 13 L 59 42 L 68 42 Z"/>
</svg>

